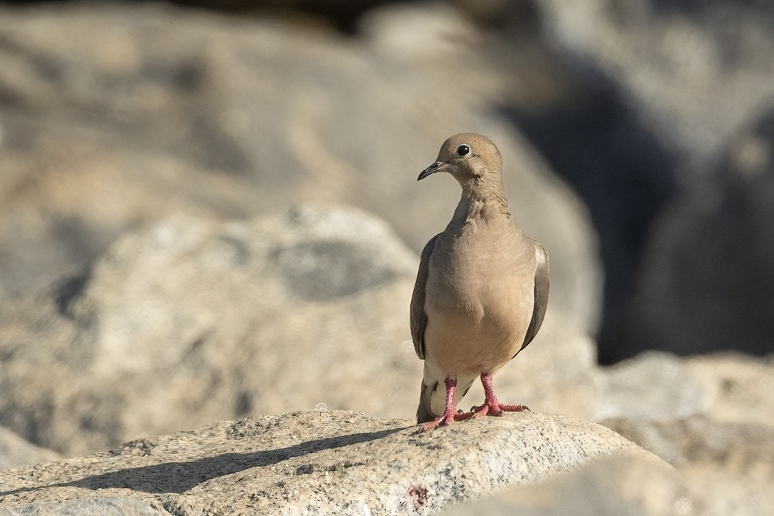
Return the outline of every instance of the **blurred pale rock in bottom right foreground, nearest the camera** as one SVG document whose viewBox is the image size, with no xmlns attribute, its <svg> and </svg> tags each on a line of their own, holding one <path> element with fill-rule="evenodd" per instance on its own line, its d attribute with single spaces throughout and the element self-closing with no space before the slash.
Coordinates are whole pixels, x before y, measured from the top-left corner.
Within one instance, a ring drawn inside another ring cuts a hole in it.
<svg viewBox="0 0 774 516">
<path fill-rule="evenodd" d="M 707 472 L 709 473 L 709 472 Z M 441 514 L 769 514 L 769 483 L 748 483 L 714 471 L 667 471 L 649 461 L 614 457 L 566 475 L 468 502 Z"/>
</svg>

